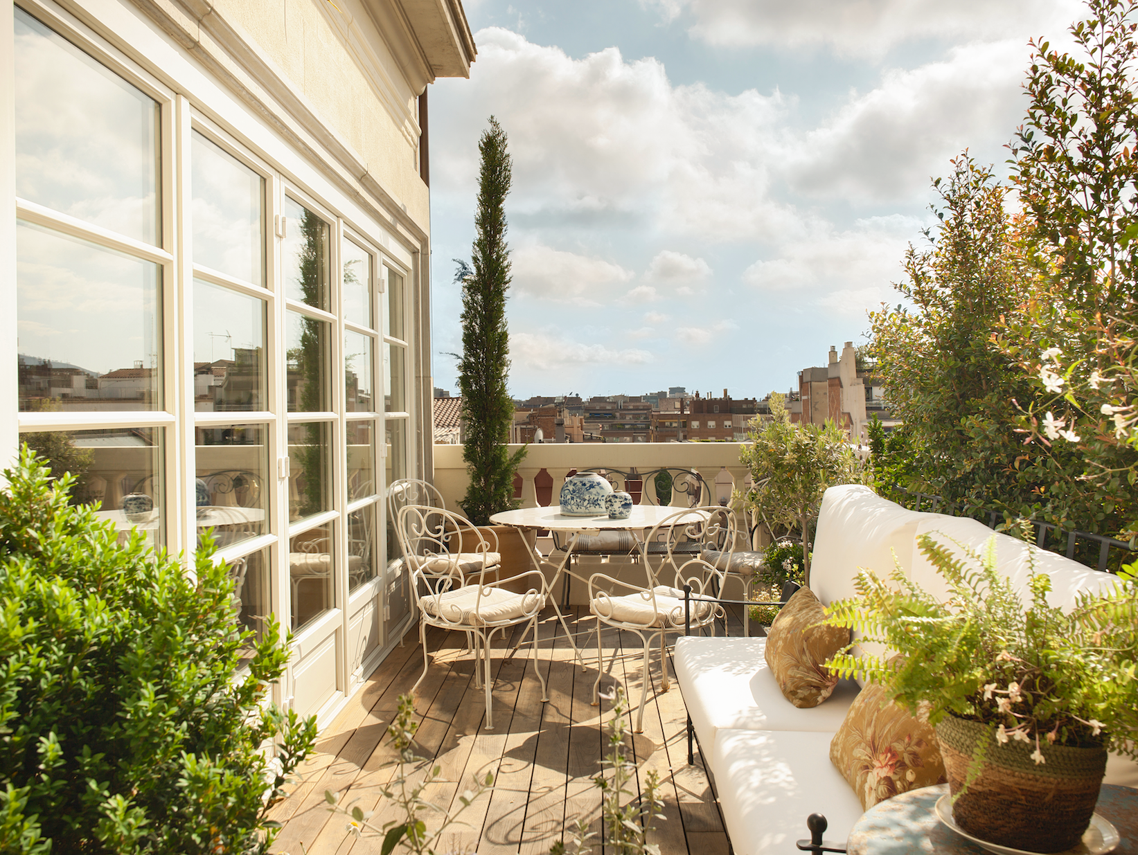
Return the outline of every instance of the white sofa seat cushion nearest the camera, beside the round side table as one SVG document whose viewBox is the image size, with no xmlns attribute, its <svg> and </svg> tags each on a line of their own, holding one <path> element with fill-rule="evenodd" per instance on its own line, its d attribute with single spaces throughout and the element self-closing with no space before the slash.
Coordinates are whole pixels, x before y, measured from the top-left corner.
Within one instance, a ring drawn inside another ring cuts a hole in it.
<svg viewBox="0 0 1138 855">
<path fill-rule="evenodd" d="M 735 855 L 786 855 L 824 814 L 825 839 L 842 841 L 861 803 L 830 762 L 833 733 L 720 730 L 711 756 L 716 791 Z"/>
</svg>

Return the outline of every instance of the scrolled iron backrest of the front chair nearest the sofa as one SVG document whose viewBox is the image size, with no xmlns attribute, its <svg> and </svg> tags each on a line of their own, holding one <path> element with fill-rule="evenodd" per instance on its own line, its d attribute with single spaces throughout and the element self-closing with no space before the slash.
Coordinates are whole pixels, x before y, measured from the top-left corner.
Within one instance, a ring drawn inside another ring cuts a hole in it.
<svg viewBox="0 0 1138 855">
<path fill-rule="evenodd" d="M 694 593 L 718 596 L 723 580 L 735 553 L 737 523 L 729 507 L 704 505 L 679 509 L 657 523 L 644 540 L 655 548 L 650 554 L 657 583 L 683 588 L 691 584 Z M 698 543 L 698 549 L 691 549 Z M 714 558 L 709 557 L 714 556 Z M 645 565 L 649 554 L 645 554 Z M 715 587 L 711 587 L 711 583 Z"/>
</svg>

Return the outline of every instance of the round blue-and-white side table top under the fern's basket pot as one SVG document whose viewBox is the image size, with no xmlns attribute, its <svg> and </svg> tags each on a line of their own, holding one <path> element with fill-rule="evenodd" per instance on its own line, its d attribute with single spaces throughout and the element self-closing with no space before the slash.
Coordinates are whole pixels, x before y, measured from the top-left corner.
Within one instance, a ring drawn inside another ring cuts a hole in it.
<svg viewBox="0 0 1138 855">
<path fill-rule="evenodd" d="M 902 792 L 874 805 L 850 831 L 848 855 L 991 855 L 937 819 L 933 806 L 948 785 Z M 1115 853 L 1138 855 L 1138 790 L 1104 783 L 1095 811 L 1114 823 Z"/>
</svg>

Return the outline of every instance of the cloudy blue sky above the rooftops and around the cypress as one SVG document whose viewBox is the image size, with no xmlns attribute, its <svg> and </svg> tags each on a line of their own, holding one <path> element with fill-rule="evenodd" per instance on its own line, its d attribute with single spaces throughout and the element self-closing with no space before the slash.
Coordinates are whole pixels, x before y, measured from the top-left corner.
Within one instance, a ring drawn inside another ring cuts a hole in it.
<svg viewBox="0 0 1138 855">
<path fill-rule="evenodd" d="M 478 140 L 509 136 L 510 393 L 733 398 L 861 343 L 927 246 L 932 180 L 1006 176 L 1029 39 L 1072 0 L 464 0 L 470 78 L 429 93 L 435 385 Z M 935 230 L 934 230 L 935 232 Z"/>
</svg>

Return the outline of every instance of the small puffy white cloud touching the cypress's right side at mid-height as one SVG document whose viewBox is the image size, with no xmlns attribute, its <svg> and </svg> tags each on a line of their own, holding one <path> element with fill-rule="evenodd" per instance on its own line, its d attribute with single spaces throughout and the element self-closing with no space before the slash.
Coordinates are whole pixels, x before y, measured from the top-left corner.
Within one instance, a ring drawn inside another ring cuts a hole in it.
<svg viewBox="0 0 1138 855">
<path fill-rule="evenodd" d="M 539 243 L 513 250 L 511 262 L 512 287 L 518 292 L 583 306 L 601 305 L 602 291 L 634 276 L 619 264 Z"/>
</svg>

